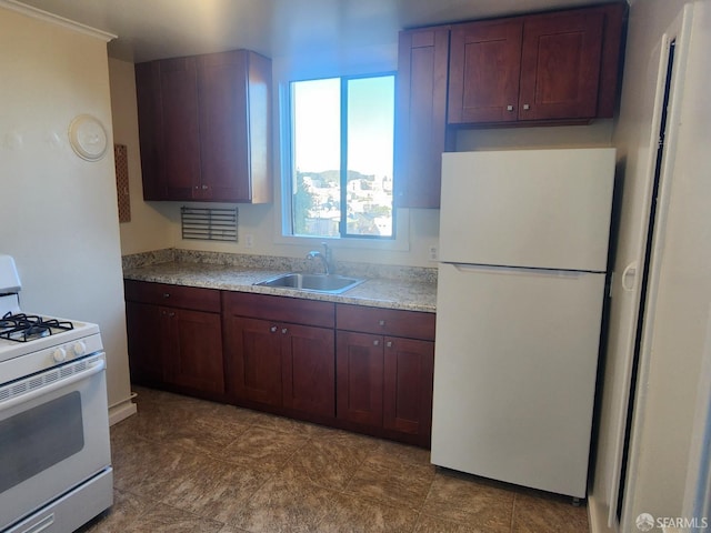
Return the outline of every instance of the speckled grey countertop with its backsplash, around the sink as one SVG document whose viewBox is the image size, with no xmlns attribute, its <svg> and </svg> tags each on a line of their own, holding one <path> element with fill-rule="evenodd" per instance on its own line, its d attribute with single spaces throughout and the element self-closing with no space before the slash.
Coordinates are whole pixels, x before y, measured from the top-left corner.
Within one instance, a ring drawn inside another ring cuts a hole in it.
<svg viewBox="0 0 711 533">
<path fill-rule="evenodd" d="M 434 269 L 375 268 L 338 263 L 337 273 L 365 279 L 364 283 L 342 294 L 254 285 L 257 282 L 287 272 L 307 271 L 308 266 L 309 264 L 301 260 L 284 258 L 168 250 L 124 257 L 123 276 L 127 280 L 223 291 L 276 294 L 430 313 L 435 311 L 437 271 Z"/>
</svg>

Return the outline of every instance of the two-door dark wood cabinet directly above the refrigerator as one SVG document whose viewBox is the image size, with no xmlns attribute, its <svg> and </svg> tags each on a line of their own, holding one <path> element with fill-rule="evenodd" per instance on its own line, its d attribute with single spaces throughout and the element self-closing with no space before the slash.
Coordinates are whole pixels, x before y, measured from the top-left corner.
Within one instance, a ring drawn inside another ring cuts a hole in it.
<svg viewBox="0 0 711 533">
<path fill-rule="evenodd" d="M 451 28 L 448 123 L 585 123 L 610 118 L 624 4 Z"/>
</svg>

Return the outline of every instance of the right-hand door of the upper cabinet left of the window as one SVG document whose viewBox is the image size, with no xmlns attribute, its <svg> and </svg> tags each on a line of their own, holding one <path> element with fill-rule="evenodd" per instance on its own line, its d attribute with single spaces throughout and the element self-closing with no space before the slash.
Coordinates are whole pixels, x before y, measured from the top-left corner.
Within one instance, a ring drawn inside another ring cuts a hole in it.
<svg viewBox="0 0 711 533">
<path fill-rule="evenodd" d="M 198 93 L 202 182 L 199 198 L 248 200 L 244 52 L 200 56 Z"/>
</svg>

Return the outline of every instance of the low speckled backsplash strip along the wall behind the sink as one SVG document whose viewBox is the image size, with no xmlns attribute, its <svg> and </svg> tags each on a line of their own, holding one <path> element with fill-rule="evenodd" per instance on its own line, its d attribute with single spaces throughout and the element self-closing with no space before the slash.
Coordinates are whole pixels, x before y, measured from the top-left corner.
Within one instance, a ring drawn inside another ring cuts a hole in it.
<svg viewBox="0 0 711 533">
<path fill-rule="evenodd" d="M 206 263 L 224 264 L 246 270 L 273 270 L 284 272 L 312 272 L 320 268 L 313 261 L 298 258 L 273 255 L 252 255 L 243 253 L 206 252 L 199 250 L 164 249 L 124 255 L 123 270 L 150 266 L 158 263 Z M 333 271 L 341 275 L 359 278 L 380 278 L 388 280 L 409 280 L 422 283 L 437 283 L 437 269 L 422 266 L 402 266 L 392 264 L 354 263 L 334 261 Z"/>
</svg>

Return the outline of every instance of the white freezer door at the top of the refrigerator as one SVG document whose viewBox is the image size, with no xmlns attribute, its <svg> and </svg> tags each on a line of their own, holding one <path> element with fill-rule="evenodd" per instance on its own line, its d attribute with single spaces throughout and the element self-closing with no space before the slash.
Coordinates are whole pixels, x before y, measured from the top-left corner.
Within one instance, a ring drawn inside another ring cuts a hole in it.
<svg viewBox="0 0 711 533">
<path fill-rule="evenodd" d="M 614 149 L 442 157 L 440 261 L 603 272 Z"/>
</svg>

